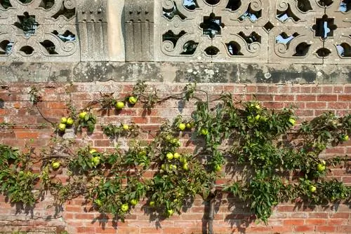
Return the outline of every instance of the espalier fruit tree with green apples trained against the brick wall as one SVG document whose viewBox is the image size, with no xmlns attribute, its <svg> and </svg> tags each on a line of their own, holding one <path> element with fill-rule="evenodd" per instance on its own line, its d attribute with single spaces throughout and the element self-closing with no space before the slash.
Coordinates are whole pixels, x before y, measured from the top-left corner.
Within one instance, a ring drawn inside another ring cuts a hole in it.
<svg viewBox="0 0 351 234">
<path fill-rule="evenodd" d="M 99 212 L 112 213 L 122 221 L 141 200 L 146 200 L 153 216 L 164 219 L 184 212 L 195 195 L 201 195 L 210 204 L 208 233 L 213 233 L 213 204 L 220 193 L 239 198 L 265 223 L 279 202 L 321 205 L 350 200 L 349 186 L 326 179 L 330 168 L 348 160 L 347 156 L 320 156 L 324 149 L 348 140 L 350 114 L 336 117 L 328 112 L 297 126 L 293 108 L 269 110 L 256 101 L 236 101 L 230 94 L 211 99 L 195 84 L 186 85 L 178 94 L 159 97 L 138 82 L 123 99 L 102 95 L 80 113 L 61 118 L 58 133 L 65 132 L 67 125 L 76 132 L 84 128 L 93 132 L 98 121 L 91 111 L 94 105 L 100 104 L 105 111 L 117 109 L 118 114 L 124 104 L 133 108 L 139 103 L 150 111 L 167 99 L 197 99 L 197 103 L 192 116 L 162 123 L 151 142 L 138 140 L 145 130 L 133 123 L 101 126 L 107 137 L 128 139 L 128 149 L 102 152 L 60 137 L 41 149 L 40 156 L 33 149 L 24 153 L 0 145 L 0 192 L 10 202 L 26 206 L 40 202 L 45 191 L 51 192 L 56 205 L 84 196 Z M 185 132 L 191 132 L 192 141 L 198 144 L 195 151 L 180 151 L 180 135 Z M 41 171 L 36 174 L 32 165 L 38 162 Z M 64 168 L 69 180 L 62 183 L 55 176 Z M 146 177 L 150 170 L 154 174 Z M 241 175 L 239 179 L 230 179 L 234 173 Z M 228 178 L 228 183 L 216 184 L 220 177 Z"/>
</svg>

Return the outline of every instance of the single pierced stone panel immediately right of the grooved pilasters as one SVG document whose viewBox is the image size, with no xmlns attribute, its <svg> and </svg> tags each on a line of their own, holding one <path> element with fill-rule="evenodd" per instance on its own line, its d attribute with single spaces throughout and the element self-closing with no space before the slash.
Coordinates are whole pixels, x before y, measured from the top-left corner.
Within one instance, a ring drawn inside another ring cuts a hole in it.
<svg viewBox="0 0 351 234">
<path fill-rule="evenodd" d="M 163 0 L 155 12 L 157 61 L 267 62 L 260 0 Z"/>
</svg>

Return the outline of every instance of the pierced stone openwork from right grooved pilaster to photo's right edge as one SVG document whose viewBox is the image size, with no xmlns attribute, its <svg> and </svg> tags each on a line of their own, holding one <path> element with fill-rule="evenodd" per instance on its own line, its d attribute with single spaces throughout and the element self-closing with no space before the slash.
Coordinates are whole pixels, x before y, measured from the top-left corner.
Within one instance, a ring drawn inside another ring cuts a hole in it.
<svg viewBox="0 0 351 234">
<path fill-rule="evenodd" d="M 350 63 L 350 1 L 154 2 L 157 61 Z"/>
</svg>

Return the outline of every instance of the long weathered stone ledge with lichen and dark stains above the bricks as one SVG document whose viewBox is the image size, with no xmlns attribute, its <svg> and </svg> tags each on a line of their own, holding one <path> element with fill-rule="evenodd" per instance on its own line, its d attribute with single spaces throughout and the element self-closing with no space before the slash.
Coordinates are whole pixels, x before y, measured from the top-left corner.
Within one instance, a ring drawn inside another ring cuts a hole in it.
<svg viewBox="0 0 351 234">
<path fill-rule="evenodd" d="M 351 65 L 185 62 L 0 62 L 0 83 L 154 81 L 198 83 L 351 83 Z"/>
</svg>

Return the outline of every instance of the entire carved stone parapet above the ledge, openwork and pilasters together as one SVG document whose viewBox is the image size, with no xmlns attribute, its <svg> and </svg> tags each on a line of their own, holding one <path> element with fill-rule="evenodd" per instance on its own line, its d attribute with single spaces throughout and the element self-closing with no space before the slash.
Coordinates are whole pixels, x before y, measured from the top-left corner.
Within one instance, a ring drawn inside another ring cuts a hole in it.
<svg viewBox="0 0 351 234">
<path fill-rule="evenodd" d="M 0 61 L 62 60 L 350 64 L 351 2 L 0 0 Z"/>
</svg>

